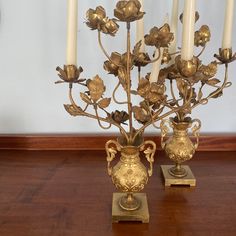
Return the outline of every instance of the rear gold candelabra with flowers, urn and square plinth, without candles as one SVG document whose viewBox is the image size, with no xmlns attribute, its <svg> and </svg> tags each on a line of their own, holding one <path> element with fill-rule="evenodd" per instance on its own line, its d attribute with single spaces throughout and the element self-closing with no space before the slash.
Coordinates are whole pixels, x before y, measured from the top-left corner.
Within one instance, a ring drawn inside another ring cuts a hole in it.
<svg viewBox="0 0 236 236">
<path fill-rule="evenodd" d="M 182 16 L 180 17 L 180 19 Z M 196 13 L 196 21 L 199 14 Z M 196 179 L 188 166 L 182 166 L 181 163 L 190 160 L 199 144 L 199 131 L 201 122 L 198 119 L 192 120 L 189 115 L 191 111 L 199 105 L 208 104 L 209 99 L 216 99 L 223 94 L 223 90 L 231 86 L 228 81 L 228 65 L 236 59 L 232 49 L 219 49 L 219 55 L 214 55 L 217 60 L 208 65 L 202 64 L 200 56 L 210 41 L 211 33 L 207 25 L 195 32 L 195 46 L 202 47 L 200 53 L 194 56 L 191 61 L 181 60 L 180 55 L 175 58 L 175 63 L 160 71 L 159 80 L 168 79 L 170 82 L 173 104 L 182 106 L 176 112 L 176 117 L 161 122 L 161 143 L 167 156 L 174 161 L 175 166 L 161 166 L 165 179 L 165 185 L 196 185 Z M 168 58 L 168 56 L 166 56 Z M 217 69 L 220 65 L 225 68 L 223 82 L 215 78 Z M 174 90 L 174 84 L 176 90 Z M 205 88 L 212 88 L 210 93 Z M 175 92 L 177 91 L 177 93 Z M 205 95 L 204 95 L 205 94 Z M 189 103 L 189 99 L 191 102 Z M 186 104 L 186 101 L 188 105 Z M 196 138 L 193 143 L 188 134 L 188 129 L 193 125 L 192 133 Z M 169 132 L 169 127 L 173 130 L 173 136 L 165 141 Z"/>
</svg>

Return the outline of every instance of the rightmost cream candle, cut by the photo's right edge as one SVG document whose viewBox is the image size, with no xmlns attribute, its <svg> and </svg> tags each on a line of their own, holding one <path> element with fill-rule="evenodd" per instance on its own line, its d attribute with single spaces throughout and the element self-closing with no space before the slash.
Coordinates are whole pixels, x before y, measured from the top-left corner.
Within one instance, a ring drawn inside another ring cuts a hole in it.
<svg viewBox="0 0 236 236">
<path fill-rule="evenodd" d="M 225 25 L 222 40 L 222 48 L 232 47 L 232 29 L 234 16 L 234 0 L 227 0 L 225 7 Z"/>
</svg>

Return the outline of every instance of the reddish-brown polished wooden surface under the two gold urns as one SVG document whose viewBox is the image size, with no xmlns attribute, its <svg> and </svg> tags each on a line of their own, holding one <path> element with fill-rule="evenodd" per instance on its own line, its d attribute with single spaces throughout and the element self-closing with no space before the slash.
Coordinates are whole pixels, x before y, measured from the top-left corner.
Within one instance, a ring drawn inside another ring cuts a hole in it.
<svg viewBox="0 0 236 236">
<path fill-rule="evenodd" d="M 150 223 L 111 223 L 102 151 L 0 151 L 0 236 L 235 236 L 236 152 L 199 152 L 196 188 L 164 188 L 159 154 Z"/>
</svg>

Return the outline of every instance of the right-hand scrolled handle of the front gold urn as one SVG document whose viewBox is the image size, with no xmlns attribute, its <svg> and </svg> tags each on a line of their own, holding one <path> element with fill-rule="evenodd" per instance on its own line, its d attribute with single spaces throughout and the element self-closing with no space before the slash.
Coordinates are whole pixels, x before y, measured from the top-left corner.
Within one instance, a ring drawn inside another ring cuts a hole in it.
<svg viewBox="0 0 236 236">
<path fill-rule="evenodd" d="M 154 155 L 156 152 L 156 144 L 151 140 L 145 141 L 143 145 L 140 147 L 140 151 L 144 152 L 145 157 L 150 164 L 150 168 L 148 169 L 148 175 L 152 176 Z"/>
</svg>

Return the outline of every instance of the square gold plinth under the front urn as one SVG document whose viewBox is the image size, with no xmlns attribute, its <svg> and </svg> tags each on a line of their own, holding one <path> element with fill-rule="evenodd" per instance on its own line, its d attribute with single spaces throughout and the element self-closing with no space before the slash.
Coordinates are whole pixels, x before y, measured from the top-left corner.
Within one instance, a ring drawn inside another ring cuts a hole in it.
<svg viewBox="0 0 236 236">
<path fill-rule="evenodd" d="M 136 221 L 141 223 L 149 222 L 149 210 L 147 204 L 147 196 L 145 193 L 133 194 L 135 202 L 133 208 L 137 209 L 126 210 L 124 204 L 127 203 L 126 193 L 113 193 L 112 201 L 112 222 L 119 223 L 122 221 Z M 122 204 L 122 206 L 121 206 Z M 129 204 L 130 206 L 130 204 Z"/>
</svg>

